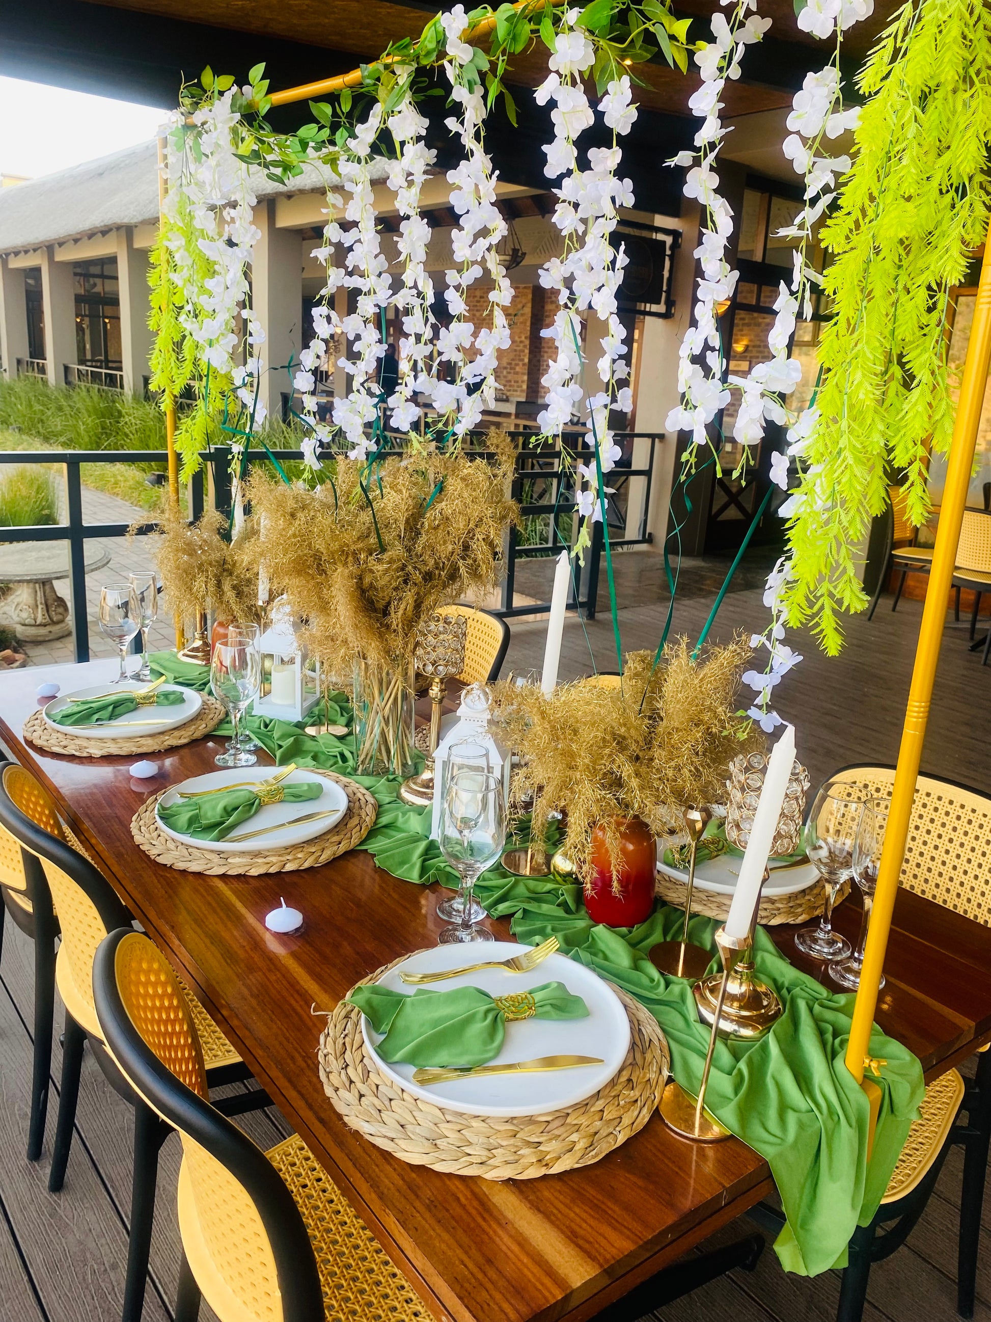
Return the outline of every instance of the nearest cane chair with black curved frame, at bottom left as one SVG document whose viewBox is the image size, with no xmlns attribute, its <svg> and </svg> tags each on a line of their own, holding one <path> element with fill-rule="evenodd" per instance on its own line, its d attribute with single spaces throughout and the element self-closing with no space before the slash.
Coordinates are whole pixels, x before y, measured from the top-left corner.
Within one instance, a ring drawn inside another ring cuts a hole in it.
<svg viewBox="0 0 991 1322">
<path fill-rule="evenodd" d="M 176 1322 L 196 1319 L 201 1293 L 221 1322 L 429 1322 L 301 1138 L 263 1153 L 209 1104 L 188 1002 L 148 937 L 112 932 L 94 992 L 122 1072 L 182 1137 Z"/>
</svg>

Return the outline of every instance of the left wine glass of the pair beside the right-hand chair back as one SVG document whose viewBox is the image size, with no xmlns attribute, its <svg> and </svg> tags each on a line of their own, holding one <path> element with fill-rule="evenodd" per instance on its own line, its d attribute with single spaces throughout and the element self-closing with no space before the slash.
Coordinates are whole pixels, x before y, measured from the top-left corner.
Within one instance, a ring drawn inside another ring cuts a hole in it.
<svg viewBox="0 0 991 1322">
<path fill-rule="evenodd" d="M 826 908 L 818 927 L 795 933 L 795 947 L 817 960 L 850 954 L 850 941 L 832 931 L 836 892 L 854 875 L 854 845 L 869 795 L 859 785 L 827 780 L 805 824 L 805 851 L 826 883 Z"/>
</svg>

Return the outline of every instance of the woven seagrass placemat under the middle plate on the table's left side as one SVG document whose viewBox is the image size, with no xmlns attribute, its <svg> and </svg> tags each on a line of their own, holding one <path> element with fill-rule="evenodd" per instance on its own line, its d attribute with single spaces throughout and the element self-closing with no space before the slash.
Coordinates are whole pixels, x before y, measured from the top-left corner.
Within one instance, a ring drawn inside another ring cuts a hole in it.
<svg viewBox="0 0 991 1322">
<path fill-rule="evenodd" d="M 159 826 L 155 806 L 163 795 L 152 795 L 131 818 L 131 834 L 145 851 L 159 863 L 176 867 L 182 873 L 206 873 L 209 876 L 262 876 L 264 873 L 295 873 L 303 867 L 318 867 L 329 863 L 338 854 L 346 854 L 369 834 L 375 825 L 378 804 L 373 795 L 355 785 L 353 780 L 334 775 L 333 771 L 316 771 L 317 776 L 333 780 L 348 795 L 348 812 L 336 826 L 303 841 L 300 845 L 285 845 L 283 849 L 260 849 L 256 854 L 219 854 L 214 849 L 198 849 L 166 836 Z"/>
</svg>

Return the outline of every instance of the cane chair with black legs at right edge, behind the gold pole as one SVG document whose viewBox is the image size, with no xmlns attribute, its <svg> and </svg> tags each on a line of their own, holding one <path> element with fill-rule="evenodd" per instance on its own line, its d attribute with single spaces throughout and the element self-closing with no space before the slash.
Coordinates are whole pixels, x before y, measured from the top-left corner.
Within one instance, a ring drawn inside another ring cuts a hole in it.
<svg viewBox="0 0 991 1322">
<path fill-rule="evenodd" d="M 982 516 L 983 517 L 983 516 Z M 836 780 L 864 787 L 872 797 L 889 800 L 893 767 L 854 765 Z M 900 884 L 963 917 L 991 927 L 991 798 L 967 785 L 937 776 L 918 776 L 912 806 Z M 967 1124 L 954 1126 L 957 1113 Z M 991 1052 L 982 1050 L 976 1076 L 965 1087 L 955 1069 L 926 1088 L 922 1118 L 916 1121 L 888 1183 L 873 1223 L 860 1227 L 850 1244 L 850 1266 L 840 1294 L 840 1318 L 856 1319 L 863 1309 L 872 1261 L 887 1257 L 909 1233 L 953 1144 L 963 1146 L 963 1188 L 957 1264 L 957 1311 L 974 1317 L 978 1241 L 984 1200 L 984 1174 L 991 1142 Z M 883 1224 L 899 1224 L 876 1235 Z M 843 1311 L 846 1303 L 848 1311 Z"/>
</svg>

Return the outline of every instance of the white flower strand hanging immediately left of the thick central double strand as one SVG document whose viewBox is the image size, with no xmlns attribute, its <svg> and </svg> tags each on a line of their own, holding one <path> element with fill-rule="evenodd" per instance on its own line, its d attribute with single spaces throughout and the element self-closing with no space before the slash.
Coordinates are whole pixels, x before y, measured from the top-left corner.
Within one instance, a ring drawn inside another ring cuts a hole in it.
<svg viewBox="0 0 991 1322">
<path fill-rule="evenodd" d="M 452 185 L 451 206 L 460 222 L 451 235 L 459 266 L 445 272 L 444 297 L 452 320 L 437 334 L 436 377 L 440 377 L 441 362 L 453 364 L 456 375 L 453 382 L 424 378 L 423 386 L 424 394 L 432 393 L 433 406 L 444 415 L 451 434 L 462 436 L 480 424 L 482 410 L 495 403 L 498 353 L 510 342 L 505 308 L 513 301 L 513 286 L 495 251 L 506 233 L 506 222 L 495 205 L 498 173 L 485 152 L 486 110 L 478 75 L 478 59 L 485 57 L 461 40 L 468 26 L 464 5 L 440 15 L 440 22 L 448 53 L 444 71 L 451 82 L 451 99 L 459 107 L 459 114 L 449 116 L 445 124 L 460 139 L 465 159 L 447 176 Z M 492 282 L 488 324 L 476 332 L 474 324 L 468 320 L 465 295 L 485 275 Z M 468 356 L 472 348 L 474 358 Z"/>
</svg>

